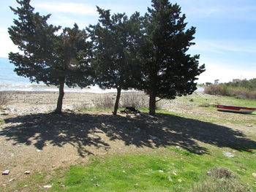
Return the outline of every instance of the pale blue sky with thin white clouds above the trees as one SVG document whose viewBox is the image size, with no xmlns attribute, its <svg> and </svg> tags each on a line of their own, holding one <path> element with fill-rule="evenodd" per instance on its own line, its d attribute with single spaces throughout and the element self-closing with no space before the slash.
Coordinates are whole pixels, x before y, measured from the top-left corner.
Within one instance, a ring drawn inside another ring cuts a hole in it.
<svg viewBox="0 0 256 192">
<path fill-rule="evenodd" d="M 256 1 L 255 0 L 175 0 L 187 16 L 187 26 L 197 28 L 195 45 L 188 53 L 200 55 L 200 65 L 206 72 L 197 82 L 229 82 L 233 79 L 256 78 Z M 31 0 L 35 12 L 51 14 L 48 23 L 62 27 L 80 28 L 96 24 L 96 6 L 110 9 L 111 13 L 125 12 L 141 15 L 151 7 L 150 0 Z M 7 28 L 15 15 L 9 6 L 18 7 L 15 0 L 1 0 L 0 4 L 0 57 L 18 52 L 12 44 Z"/>
</svg>

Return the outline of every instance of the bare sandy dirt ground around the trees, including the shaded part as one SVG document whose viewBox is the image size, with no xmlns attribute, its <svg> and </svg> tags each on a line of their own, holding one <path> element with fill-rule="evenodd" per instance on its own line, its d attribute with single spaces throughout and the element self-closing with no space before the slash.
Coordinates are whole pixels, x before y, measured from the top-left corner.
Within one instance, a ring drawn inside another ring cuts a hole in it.
<svg viewBox="0 0 256 192">
<path fill-rule="evenodd" d="M 4 119 L 0 124 L 0 171 L 10 169 L 9 175 L 0 176 L 3 188 L 18 180 L 26 185 L 31 174 L 51 174 L 59 167 L 86 162 L 89 155 L 140 153 L 170 145 L 191 153 L 210 153 L 202 143 L 235 150 L 256 148 L 256 142 L 247 137 L 256 133 L 255 124 L 208 123 L 167 114 L 127 117 L 121 113 L 113 116 L 111 112 L 80 112 L 80 107 L 94 106 L 99 97 L 95 93 L 65 93 L 64 113 L 56 115 L 50 112 L 56 107 L 58 93 L 9 94 L 7 107 L 0 116 Z M 203 108 L 181 102 L 165 101 L 163 105 L 173 112 L 206 115 Z M 216 114 L 208 111 L 207 115 L 210 118 Z M 247 118 L 225 112 L 218 115 L 224 119 Z M 26 171 L 31 174 L 24 174 Z"/>
</svg>

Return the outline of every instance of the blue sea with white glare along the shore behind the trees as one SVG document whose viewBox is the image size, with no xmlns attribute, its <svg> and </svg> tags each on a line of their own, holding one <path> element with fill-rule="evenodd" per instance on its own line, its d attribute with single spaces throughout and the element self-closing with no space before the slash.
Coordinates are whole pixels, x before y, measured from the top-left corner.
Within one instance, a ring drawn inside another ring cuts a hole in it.
<svg viewBox="0 0 256 192">
<path fill-rule="evenodd" d="M 0 91 L 59 91 L 56 86 L 48 86 L 42 82 L 31 83 L 29 78 L 18 76 L 13 70 L 14 64 L 10 64 L 8 58 L 0 58 Z M 65 92 L 76 93 L 114 93 L 116 89 L 102 90 L 98 86 L 89 88 L 68 88 L 65 86 Z M 203 91 L 203 88 L 197 87 L 197 91 Z"/>
</svg>

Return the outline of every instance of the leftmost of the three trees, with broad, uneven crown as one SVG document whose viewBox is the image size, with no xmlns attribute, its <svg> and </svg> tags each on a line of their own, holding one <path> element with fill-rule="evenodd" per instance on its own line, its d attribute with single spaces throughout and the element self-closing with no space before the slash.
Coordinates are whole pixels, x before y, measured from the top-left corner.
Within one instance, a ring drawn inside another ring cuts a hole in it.
<svg viewBox="0 0 256 192">
<path fill-rule="evenodd" d="M 18 1 L 20 8 L 12 9 L 18 19 L 9 28 L 10 38 L 18 45 L 20 53 L 10 53 L 15 72 L 29 77 L 31 82 L 44 82 L 59 87 L 59 99 L 55 112 L 61 113 L 64 84 L 86 86 L 91 84 L 91 43 L 86 42 L 86 31 L 64 28 L 47 23 L 50 15 L 34 13 L 30 0 Z"/>
</svg>

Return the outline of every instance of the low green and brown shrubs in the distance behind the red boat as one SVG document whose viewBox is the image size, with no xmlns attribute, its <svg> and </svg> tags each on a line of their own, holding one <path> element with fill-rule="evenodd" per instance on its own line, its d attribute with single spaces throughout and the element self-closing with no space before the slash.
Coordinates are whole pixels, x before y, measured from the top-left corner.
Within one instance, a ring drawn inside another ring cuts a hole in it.
<svg viewBox="0 0 256 192">
<path fill-rule="evenodd" d="M 206 86 L 204 92 L 211 95 L 233 96 L 239 99 L 256 99 L 256 79 L 226 82 Z"/>
</svg>

